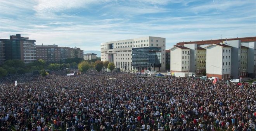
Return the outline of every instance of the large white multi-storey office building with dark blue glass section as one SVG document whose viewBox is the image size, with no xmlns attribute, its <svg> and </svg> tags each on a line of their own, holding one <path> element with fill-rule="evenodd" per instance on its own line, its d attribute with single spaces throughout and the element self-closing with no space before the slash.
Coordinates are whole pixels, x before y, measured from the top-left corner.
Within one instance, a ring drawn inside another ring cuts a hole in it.
<svg viewBox="0 0 256 131">
<path fill-rule="evenodd" d="M 100 44 L 101 60 L 122 70 L 165 70 L 165 38 L 141 37 Z"/>
</svg>

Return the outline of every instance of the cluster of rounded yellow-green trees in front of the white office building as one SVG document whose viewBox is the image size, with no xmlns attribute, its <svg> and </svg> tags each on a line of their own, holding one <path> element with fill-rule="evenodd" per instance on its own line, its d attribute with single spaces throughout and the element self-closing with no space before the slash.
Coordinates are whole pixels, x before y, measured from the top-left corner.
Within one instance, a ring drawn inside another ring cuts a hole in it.
<svg viewBox="0 0 256 131">
<path fill-rule="evenodd" d="M 81 72 L 86 72 L 90 68 L 94 68 L 97 72 L 100 72 L 103 67 L 109 69 L 110 71 L 113 71 L 116 66 L 114 65 L 114 63 L 109 63 L 108 61 L 102 62 L 100 60 L 97 60 L 95 62 L 82 61 L 78 64 L 78 69 Z"/>
</svg>

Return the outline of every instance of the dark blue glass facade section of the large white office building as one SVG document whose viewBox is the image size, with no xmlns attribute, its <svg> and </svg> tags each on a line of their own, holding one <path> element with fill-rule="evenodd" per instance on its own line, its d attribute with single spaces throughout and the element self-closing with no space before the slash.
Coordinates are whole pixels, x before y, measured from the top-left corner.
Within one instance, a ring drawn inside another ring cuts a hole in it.
<svg viewBox="0 0 256 131">
<path fill-rule="evenodd" d="M 161 47 L 141 47 L 132 49 L 132 66 L 139 69 L 161 67 Z"/>
</svg>

